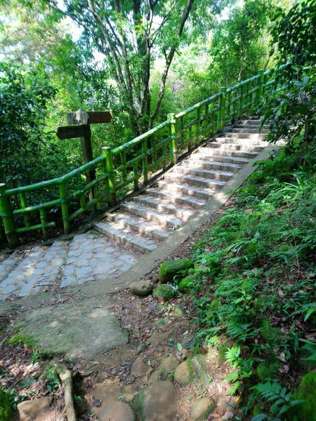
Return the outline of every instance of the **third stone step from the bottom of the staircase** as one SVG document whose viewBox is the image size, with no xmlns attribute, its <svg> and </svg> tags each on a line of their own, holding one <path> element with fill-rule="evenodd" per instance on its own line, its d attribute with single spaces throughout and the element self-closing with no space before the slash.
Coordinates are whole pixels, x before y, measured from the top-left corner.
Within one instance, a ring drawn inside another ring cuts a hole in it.
<svg viewBox="0 0 316 421">
<path fill-rule="evenodd" d="M 162 227 L 178 229 L 183 223 L 180 219 L 176 217 L 173 217 L 171 215 L 164 215 L 150 208 L 146 208 L 146 206 L 142 206 L 140 205 L 140 203 L 135 203 L 133 201 L 121 204 L 120 208 L 133 215 L 140 216 L 140 218 L 143 218 L 145 220 L 157 222 L 157 224 L 161 225 Z"/>
</svg>

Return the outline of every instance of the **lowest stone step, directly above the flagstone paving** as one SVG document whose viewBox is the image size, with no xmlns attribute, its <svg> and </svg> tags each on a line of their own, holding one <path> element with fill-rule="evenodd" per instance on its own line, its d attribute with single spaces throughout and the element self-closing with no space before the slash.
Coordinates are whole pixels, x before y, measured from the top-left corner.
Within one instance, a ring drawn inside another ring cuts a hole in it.
<svg viewBox="0 0 316 421">
<path fill-rule="evenodd" d="M 150 253 L 158 246 L 157 241 L 154 241 L 154 239 L 137 234 L 126 227 L 121 227 L 116 222 L 97 222 L 94 225 L 94 229 L 109 237 L 115 243 L 123 244 L 141 253 Z"/>
</svg>

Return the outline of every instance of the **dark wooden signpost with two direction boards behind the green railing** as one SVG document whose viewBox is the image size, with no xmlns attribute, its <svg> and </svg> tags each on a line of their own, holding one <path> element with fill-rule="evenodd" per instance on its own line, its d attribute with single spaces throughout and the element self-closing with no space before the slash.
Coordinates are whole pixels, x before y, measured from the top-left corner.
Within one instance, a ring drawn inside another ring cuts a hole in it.
<svg viewBox="0 0 316 421">
<path fill-rule="evenodd" d="M 58 127 L 56 135 L 60 140 L 80 138 L 84 163 L 87 163 L 93 161 L 90 124 L 110 123 L 111 119 L 111 113 L 108 111 L 86 112 L 79 109 L 76 112 L 67 112 L 67 121 L 72 126 Z M 92 168 L 88 170 L 87 181 L 95 179 L 96 171 Z"/>
</svg>

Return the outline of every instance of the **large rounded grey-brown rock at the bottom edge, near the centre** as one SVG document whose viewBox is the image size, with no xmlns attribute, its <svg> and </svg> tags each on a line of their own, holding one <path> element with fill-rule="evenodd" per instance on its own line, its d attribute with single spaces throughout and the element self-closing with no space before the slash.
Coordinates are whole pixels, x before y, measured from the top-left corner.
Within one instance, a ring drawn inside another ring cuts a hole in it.
<svg viewBox="0 0 316 421">
<path fill-rule="evenodd" d="M 134 400 L 142 421 L 173 421 L 177 408 L 176 388 L 169 380 L 141 389 Z"/>
</svg>

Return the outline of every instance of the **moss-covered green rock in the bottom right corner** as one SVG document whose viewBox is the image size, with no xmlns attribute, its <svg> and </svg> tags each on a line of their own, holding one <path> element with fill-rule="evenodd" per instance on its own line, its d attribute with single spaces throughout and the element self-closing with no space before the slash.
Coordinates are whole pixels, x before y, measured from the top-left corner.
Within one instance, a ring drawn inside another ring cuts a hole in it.
<svg viewBox="0 0 316 421">
<path fill-rule="evenodd" d="M 287 419 L 312 421 L 316 414 L 316 373 L 307 373 L 303 376 L 291 400 L 302 399 L 303 402 L 287 411 Z"/>
</svg>

